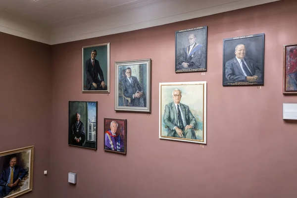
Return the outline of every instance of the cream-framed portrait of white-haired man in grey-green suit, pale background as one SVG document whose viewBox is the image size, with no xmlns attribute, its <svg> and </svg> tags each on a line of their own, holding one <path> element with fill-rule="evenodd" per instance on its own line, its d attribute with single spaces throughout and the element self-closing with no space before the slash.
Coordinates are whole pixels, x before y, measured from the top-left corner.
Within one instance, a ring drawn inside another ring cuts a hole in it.
<svg viewBox="0 0 297 198">
<path fill-rule="evenodd" d="M 206 144 L 206 82 L 159 83 L 159 138 Z"/>
</svg>

